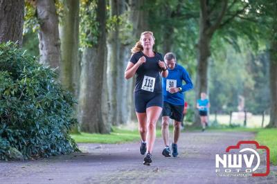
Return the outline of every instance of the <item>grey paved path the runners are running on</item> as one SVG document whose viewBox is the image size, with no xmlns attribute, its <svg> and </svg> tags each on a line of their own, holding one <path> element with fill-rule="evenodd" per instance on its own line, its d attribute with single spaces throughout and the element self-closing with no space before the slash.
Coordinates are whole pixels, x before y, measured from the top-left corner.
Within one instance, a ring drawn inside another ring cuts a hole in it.
<svg viewBox="0 0 277 184">
<path fill-rule="evenodd" d="M 154 162 L 142 164 L 139 142 L 120 145 L 79 144 L 83 153 L 24 162 L 0 162 L 0 183 L 277 183 L 277 167 L 267 177 L 220 177 L 215 154 L 238 140 L 253 140 L 249 132 L 189 132 L 181 134 L 179 157 L 161 155 L 158 138 Z M 265 165 L 265 163 L 262 163 Z"/>
</svg>

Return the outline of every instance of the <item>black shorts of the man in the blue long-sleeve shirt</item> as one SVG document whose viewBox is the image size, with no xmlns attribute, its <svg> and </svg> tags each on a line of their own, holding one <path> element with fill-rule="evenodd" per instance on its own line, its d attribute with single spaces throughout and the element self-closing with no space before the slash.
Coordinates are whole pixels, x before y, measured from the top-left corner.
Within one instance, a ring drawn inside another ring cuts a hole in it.
<svg viewBox="0 0 277 184">
<path fill-rule="evenodd" d="M 175 105 L 163 102 L 162 116 L 169 116 L 171 119 L 181 122 L 183 118 L 184 105 Z"/>
</svg>

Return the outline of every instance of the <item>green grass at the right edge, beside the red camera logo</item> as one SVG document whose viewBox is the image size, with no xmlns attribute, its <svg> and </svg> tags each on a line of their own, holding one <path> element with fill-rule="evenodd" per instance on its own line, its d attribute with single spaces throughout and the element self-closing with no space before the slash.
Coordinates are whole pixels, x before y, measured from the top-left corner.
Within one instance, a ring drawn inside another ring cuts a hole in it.
<svg viewBox="0 0 277 184">
<path fill-rule="evenodd" d="M 277 165 L 277 129 L 261 129 L 256 140 L 260 145 L 269 147 L 270 162 Z"/>
</svg>

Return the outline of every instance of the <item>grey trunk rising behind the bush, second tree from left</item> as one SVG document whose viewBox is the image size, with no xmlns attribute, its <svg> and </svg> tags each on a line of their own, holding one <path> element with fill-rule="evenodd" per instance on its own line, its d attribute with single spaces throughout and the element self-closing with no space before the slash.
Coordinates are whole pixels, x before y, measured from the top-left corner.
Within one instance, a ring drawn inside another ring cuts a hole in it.
<svg viewBox="0 0 277 184">
<path fill-rule="evenodd" d="M 60 38 L 55 1 L 37 0 L 37 18 L 40 25 L 39 62 L 57 68 L 60 66 Z"/>
</svg>

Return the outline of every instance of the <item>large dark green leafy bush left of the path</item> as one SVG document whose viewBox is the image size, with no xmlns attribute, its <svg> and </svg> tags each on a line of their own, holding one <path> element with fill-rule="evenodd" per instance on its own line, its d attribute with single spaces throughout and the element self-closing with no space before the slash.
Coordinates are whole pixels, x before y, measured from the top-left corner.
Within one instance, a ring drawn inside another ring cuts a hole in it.
<svg viewBox="0 0 277 184">
<path fill-rule="evenodd" d="M 16 44 L 0 44 L 0 159 L 10 150 L 24 156 L 69 154 L 78 148 L 69 136 L 77 120 L 72 95 L 62 90 L 57 74 Z"/>
</svg>

